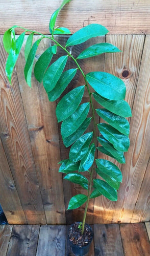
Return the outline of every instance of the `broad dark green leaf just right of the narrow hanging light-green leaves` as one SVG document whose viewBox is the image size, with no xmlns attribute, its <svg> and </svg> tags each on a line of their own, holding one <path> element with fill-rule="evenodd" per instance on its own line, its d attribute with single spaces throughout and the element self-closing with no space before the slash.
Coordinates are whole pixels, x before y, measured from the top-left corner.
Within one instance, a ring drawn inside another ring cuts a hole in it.
<svg viewBox="0 0 150 256">
<path fill-rule="evenodd" d="M 41 56 L 39 57 L 39 59 L 37 60 L 37 62 L 35 64 L 34 75 L 39 82 L 42 82 L 44 73 L 49 65 L 49 62 L 51 61 L 51 59 L 53 57 L 52 48 L 53 48 L 53 46 L 46 49 L 46 51 L 44 51 L 41 54 Z"/>
</svg>

